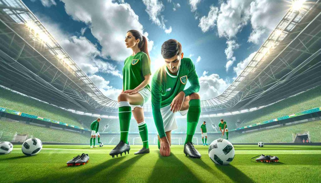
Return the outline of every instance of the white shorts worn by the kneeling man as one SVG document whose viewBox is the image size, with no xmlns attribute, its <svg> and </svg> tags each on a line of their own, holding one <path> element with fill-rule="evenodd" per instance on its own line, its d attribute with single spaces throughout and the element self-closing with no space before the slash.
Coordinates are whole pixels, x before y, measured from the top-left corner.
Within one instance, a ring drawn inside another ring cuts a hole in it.
<svg viewBox="0 0 321 183">
<path fill-rule="evenodd" d="M 165 107 L 160 108 L 160 113 L 163 118 L 163 125 L 164 125 L 165 132 L 178 129 L 176 124 L 176 119 L 175 119 L 176 112 L 173 113 L 172 111 L 170 111 L 170 107 L 171 107 L 170 105 L 167 105 Z M 187 114 L 187 111 L 188 109 L 185 111 L 179 111 L 179 113 L 184 116 Z M 158 135 L 158 132 L 157 132 L 157 135 Z"/>
</svg>

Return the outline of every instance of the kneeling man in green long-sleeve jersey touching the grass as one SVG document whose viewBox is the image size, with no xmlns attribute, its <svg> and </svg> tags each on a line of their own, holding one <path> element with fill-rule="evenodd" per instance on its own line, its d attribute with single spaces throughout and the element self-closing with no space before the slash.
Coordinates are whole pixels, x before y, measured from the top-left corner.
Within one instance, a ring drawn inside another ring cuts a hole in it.
<svg viewBox="0 0 321 183">
<path fill-rule="evenodd" d="M 152 113 L 160 141 L 160 154 L 170 155 L 170 134 L 177 129 L 175 112 L 187 113 L 187 136 L 184 153 L 200 158 L 192 139 L 201 113 L 200 85 L 191 59 L 183 58 L 182 46 L 169 39 L 161 46 L 165 65 L 156 71 L 152 79 Z M 191 84 L 184 90 L 187 80 Z"/>
</svg>

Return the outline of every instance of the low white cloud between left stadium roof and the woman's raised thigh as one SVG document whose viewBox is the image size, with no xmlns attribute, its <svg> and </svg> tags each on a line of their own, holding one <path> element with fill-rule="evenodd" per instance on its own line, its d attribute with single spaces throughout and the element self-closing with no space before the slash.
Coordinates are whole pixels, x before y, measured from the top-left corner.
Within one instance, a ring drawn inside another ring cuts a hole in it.
<svg viewBox="0 0 321 183">
<path fill-rule="evenodd" d="M 117 101 L 117 97 L 122 91 L 121 89 L 116 89 L 112 86 L 109 86 L 109 81 L 106 81 L 101 76 L 92 75 L 89 76 L 89 79 L 91 79 L 91 81 L 98 87 L 101 93 L 103 93 L 108 98 Z"/>
</svg>

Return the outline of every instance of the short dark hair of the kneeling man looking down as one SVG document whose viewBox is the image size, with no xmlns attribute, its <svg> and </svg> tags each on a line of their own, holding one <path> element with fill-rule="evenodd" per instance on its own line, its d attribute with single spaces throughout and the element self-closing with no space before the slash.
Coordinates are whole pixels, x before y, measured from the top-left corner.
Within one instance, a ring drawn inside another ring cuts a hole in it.
<svg viewBox="0 0 321 183">
<path fill-rule="evenodd" d="M 169 39 L 161 46 L 161 55 L 165 59 L 182 54 L 182 45 L 175 39 Z"/>
</svg>

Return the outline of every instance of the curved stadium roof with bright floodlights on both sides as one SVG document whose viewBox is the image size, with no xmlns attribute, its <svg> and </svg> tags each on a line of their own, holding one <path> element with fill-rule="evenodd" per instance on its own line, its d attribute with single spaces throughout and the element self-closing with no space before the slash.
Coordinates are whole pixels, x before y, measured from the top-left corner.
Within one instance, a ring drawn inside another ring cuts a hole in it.
<svg viewBox="0 0 321 183">
<path fill-rule="evenodd" d="M 237 79 L 202 100 L 203 113 L 263 106 L 320 85 L 320 31 L 319 0 L 292 7 Z M 66 109 L 116 115 L 117 101 L 101 93 L 22 1 L 0 0 L 0 42 L 0 85 Z"/>
</svg>

